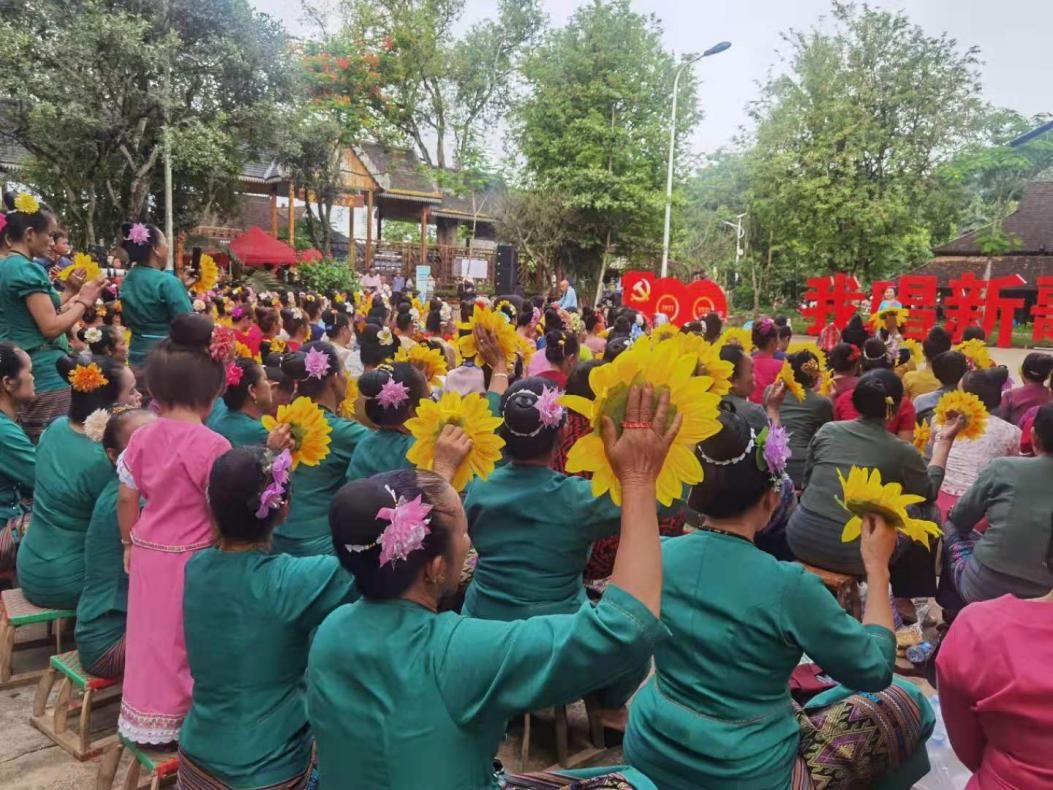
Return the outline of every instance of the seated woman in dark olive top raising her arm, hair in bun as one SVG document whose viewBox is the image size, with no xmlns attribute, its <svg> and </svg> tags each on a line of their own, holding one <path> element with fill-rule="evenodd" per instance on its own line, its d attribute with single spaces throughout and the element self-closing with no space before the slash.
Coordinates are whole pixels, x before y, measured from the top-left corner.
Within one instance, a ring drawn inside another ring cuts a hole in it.
<svg viewBox="0 0 1053 790">
<path fill-rule="evenodd" d="M 841 398 L 846 396 L 842 395 Z M 903 386 L 887 369 L 863 375 L 852 391 L 853 408 L 859 413 L 851 421 L 828 422 L 812 439 L 804 468 L 804 493 L 790 517 L 787 536 L 797 559 L 828 571 L 862 576 L 866 568 L 856 541 L 841 542 L 846 510 L 838 503 L 841 483 L 852 467 L 881 472 L 882 482 L 898 482 L 905 494 L 923 496 L 934 503 L 943 481 L 943 467 L 960 420 L 946 427 L 933 445 L 932 461 L 925 461 L 913 446 L 886 429 L 903 397 Z M 928 517 L 936 520 L 935 507 Z M 913 621 L 909 600 L 936 594 L 936 568 L 932 552 L 905 535 L 892 559 L 892 590 L 900 598 L 900 614 Z"/>
</svg>

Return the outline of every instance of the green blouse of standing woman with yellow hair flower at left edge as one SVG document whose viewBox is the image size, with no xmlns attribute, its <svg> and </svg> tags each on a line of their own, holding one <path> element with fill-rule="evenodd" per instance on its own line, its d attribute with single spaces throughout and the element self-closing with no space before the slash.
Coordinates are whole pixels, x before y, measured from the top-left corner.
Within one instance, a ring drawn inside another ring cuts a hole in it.
<svg viewBox="0 0 1053 790">
<path fill-rule="evenodd" d="M 69 353 L 65 334 L 48 340 L 41 334 L 25 299 L 33 294 L 47 294 L 56 310 L 61 300 L 47 279 L 47 272 L 21 253 L 12 253 L 0 260 L 0 340 L 15 343 L 33 360 L 33 378 L 37 393 L 62 390 L 62 380 L 55 363 Z"/>
</svg>

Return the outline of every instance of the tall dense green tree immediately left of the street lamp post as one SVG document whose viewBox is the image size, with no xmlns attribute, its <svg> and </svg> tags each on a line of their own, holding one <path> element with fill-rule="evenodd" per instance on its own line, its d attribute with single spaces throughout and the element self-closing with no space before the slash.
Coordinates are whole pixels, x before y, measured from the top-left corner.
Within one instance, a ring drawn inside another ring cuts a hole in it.
<svg viewBox="0 0 1053 790">
<path fill-rule="evenodd" d="M 578 8 L 524 64 L 532 92 L 515 135 L 526 185 L 561 196 L 573 229 L 569 266 L 585 281 L 601 280 L 612 255 L 635 263 L 660 253 L 676 65 L 657 19 L 633 12 L 629 0 Z M 699 117 L 690 70 L 678 100 L 682 154 Z"/>
</svg>

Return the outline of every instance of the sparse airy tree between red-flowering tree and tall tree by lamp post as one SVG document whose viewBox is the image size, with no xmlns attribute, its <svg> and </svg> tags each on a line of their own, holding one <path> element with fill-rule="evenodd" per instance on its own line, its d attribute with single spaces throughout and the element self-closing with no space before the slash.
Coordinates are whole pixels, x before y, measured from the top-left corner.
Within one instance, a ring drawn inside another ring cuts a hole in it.
<svg viewBox="0 0 1053 790">
<path fill-rule="evenodd" d="M 498 0 L 461 37 L 464 0 L 345 0 L 340 38 L 389 48 L 381 136 L 408 140 L 429 165 L 463 166 L 508 110 L 523 53 L 544 23 L 538 0 Z"/>
</svg>

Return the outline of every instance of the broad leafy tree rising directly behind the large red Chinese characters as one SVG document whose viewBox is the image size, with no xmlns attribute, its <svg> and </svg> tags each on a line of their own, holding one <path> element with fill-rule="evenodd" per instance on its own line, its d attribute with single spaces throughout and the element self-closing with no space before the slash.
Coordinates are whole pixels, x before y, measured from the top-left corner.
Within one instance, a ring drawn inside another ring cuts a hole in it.
<svg viewBox="0 0 1053 790">
<path fill-rule="evenodd" d="M 784 36 L 788 72 L 752 105 L 754 239 L 783 269 L 878 277 L 927 259 L 932 209 L 954 211 L 936 171 L 975 134 L 978 54 L 898 13 L 832 18 Z"/>
</svg>

